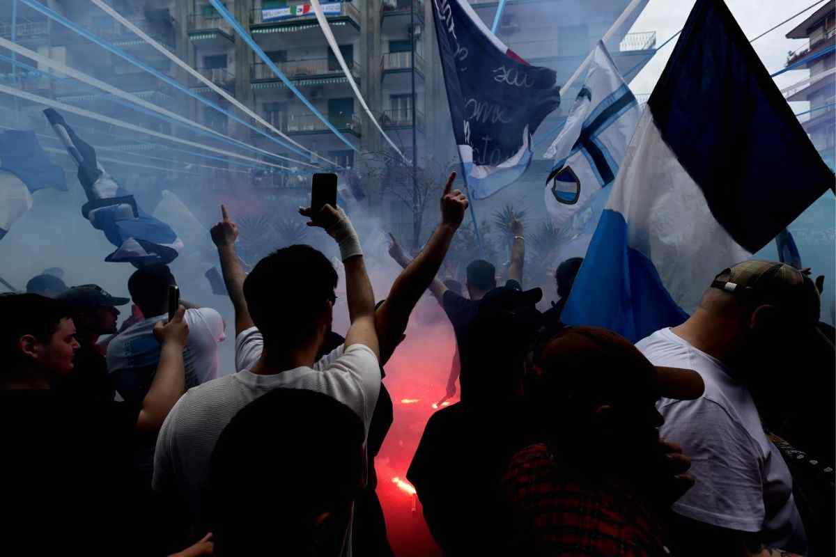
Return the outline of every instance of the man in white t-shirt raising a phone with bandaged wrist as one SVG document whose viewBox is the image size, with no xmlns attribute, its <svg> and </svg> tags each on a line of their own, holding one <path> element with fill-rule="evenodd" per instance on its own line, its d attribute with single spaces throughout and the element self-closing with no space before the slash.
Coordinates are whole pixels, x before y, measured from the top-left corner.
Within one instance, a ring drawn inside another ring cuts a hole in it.
<svg viewBox="0 0 836 557">
<path fill-rule="evenodd" d="M 241 371 L 187 392 L 166 418 L 157 440 L 154 489 L 181 511 L 182 526 L 201 523 L 202 490 L 223 428 L 264 393 L 277 387 L 322 392 L 356 413 L 368 432 L 380 390 L 380 348 L 375 296 L 359 238 L 342 210 L 325 205 L 316 214 L 310 209 L 300 213 L 310 219 L 308 225 L 324 228 L 339 245 L 351 320 L 345 344 L 317 362 L 336 300 L 337 272 L 328 258 L 311 246 L 289 246 L 257 263 L 242 287 L 255 327 L 236 338 Z M 221 226 L 232 229 L 228 219 Z M 217 232 L 213 231 L 213 238 L 221 236 Z M 227 270 L 224 273 L 228 276 Z M 240 312 L 236 324 L 246 324 Z M 252 487 L 242 479 L 242 489 Z M 344 555 L 351 554 L 350 532 L 349 524 Z M 198 537 L 203 533 L 193 531 Z"/>
</svg>

